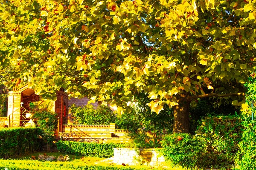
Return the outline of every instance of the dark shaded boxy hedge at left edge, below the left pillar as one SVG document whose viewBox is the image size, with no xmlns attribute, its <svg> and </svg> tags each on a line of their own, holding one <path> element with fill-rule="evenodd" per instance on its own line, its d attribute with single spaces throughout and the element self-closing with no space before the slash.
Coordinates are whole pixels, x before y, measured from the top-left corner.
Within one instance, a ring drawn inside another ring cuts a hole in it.
<svg viewBox="0 0 256 170">
<path fill-rule="evenodd" d="M 42 132 L 35 127 L 0 129 L 0 158 L 7 159 L 39 150 Z"/>
</svg>

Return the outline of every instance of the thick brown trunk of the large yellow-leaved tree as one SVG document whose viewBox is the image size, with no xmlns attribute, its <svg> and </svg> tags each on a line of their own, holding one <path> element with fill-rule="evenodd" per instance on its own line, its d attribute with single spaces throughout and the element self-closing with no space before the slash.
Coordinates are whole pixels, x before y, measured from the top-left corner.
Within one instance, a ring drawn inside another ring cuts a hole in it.
<svg viewBox="0 0 256 170">
<path fill-rule="evenodd" d="M 173 133 L 189 133 L 189 105 L 190 101 L 182 101 L 173 107 Z"/>
</svg>

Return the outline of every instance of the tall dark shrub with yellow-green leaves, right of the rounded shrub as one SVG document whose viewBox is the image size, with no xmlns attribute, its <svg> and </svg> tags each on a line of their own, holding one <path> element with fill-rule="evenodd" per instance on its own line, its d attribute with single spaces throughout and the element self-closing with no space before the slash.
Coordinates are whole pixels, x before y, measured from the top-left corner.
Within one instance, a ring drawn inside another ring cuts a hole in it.
<svg viewBox="0 0 256 170">
<path fill-rule="evenodd" d="M 197 135 L 207 144 L 207 167 L 234 167 L 242 136 L 239 116 L 206 117 L 198 127 Z"/>
</svg>

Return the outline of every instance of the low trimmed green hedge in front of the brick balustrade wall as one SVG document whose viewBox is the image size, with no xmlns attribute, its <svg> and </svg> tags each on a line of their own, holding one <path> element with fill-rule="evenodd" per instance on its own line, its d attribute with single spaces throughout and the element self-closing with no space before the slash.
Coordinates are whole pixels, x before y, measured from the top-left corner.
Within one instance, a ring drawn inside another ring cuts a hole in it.
<svg viewBox="0 0 256 170">
<path fill-rule="evenodd" d="M 122 147 L 122 144 L 98 144 L 73 141 L 58 141 L 56 144 L 57 149 L 61 153 L 98 158 L 110 158 L 114 154 L 114 147 Z"/>
</svg>

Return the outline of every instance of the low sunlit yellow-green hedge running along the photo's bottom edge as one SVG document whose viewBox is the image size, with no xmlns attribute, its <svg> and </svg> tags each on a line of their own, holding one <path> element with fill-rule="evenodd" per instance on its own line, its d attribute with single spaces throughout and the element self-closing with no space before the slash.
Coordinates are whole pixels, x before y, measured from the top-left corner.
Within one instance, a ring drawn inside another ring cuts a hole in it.
<svg viewBox="0 0 256 170">
<path fill-rule="evenodd" d="M 0 160 L 0 170 L 149 170 L 151 168 L 86 165 L 84 162 Z"/>
</svg>

